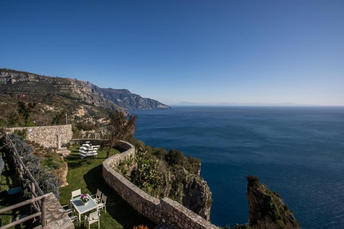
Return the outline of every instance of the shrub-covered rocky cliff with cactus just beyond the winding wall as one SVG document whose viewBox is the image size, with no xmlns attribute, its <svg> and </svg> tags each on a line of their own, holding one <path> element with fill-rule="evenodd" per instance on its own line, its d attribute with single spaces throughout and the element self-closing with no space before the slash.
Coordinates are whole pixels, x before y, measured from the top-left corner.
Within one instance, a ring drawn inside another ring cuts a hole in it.
<svg viewBox="0 0 344 229">
<path fill-rule="evenodd" d="M 185 157 L 179 150 L 146 146 L 135 138 L 130 142 L 137 149 L 135 157 L 114 166 L 117 172 L 150 196 L 169 197 L 210 220 L 212 193 L 200 176 L 200 159 Z"/>
</svg>

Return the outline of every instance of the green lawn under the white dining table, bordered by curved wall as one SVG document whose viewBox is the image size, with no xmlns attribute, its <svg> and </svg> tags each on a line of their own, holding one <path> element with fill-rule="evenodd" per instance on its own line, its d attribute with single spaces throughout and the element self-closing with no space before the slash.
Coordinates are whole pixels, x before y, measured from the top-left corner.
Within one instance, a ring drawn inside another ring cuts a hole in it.
<svg viewBox="0 0 344 229">
<path fill-rule="evenodd" d="M 147 225 L 150 229 L 153 229 L 156 225 L 152 221 L 139 214 L 104 181 L 102 162 L 105 160 L 107 148 L 99 149 L 97 157 L 89 157 L 82 160 L 80 160 L 77 148 L 79 146 L 69 148 L 71 154 L 64 159 L 68 164 L 68 185 L 60 188 L 61 205 L 69 204 L 71 193 L 74 190 L 81 188 L 81 193 L 93 195 L 97 192 L 97 188 L 99 188 L 107 196 L 106 213 L 104 209 L 100 210 L 100 228 L 132 229 L 133 226 Z M 111 149 L 110 156 L 116 153 L 119 153 L 119 151 Z M 78 214 L 76 213 L 75 215 Z M 81 228 L 84 228 L 83 217 L 84 215 L 82 215 Z M 87 224 L 86 226 L 88 227 Z M 91 228 L 98 228 L 98 224 L 91 224 Z"/>
</svg>

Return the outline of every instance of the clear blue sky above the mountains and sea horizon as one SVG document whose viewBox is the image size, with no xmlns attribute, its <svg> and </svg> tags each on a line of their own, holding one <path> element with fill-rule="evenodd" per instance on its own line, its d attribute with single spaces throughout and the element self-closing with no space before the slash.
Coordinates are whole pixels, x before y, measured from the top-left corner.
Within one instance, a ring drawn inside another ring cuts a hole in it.
<svg viewBox="0 0 344 229">
<path fill-rule="evenodd" d="M 0 67 L 168 104 L 344 105 L 344 1 L 1 1 Z"/>
</svg>

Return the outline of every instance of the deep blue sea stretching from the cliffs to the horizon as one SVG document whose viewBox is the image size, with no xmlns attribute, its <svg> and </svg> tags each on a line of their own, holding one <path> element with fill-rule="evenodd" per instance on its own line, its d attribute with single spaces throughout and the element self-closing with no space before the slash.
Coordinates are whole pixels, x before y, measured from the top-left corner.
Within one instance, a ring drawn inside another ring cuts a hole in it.
<svg viewBox="0 0 344 229">
<path fill-rule="evenodd" d="M 246 179 L 278 192 L 301 226 L 344 228 L 344 107 L 172 107 L 137 114 L 135 137 L 202 160 L 211 222 L 248 219 Z"/>
</svg>

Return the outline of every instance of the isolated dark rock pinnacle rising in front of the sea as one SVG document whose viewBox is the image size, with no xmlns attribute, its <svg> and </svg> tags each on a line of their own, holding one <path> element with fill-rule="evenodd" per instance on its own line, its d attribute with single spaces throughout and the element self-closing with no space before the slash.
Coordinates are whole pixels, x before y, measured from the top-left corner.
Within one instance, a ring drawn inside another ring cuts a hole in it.
<svg viewBox="0 0 344 229">
<path fill-rule="evenodd" d="M 291 229 L 300 228 L 300 222 L 295 219 L 288 205 L 276 192 L 271 192 L 266 185 L 261 184 L 259 178 L 247 177 L 246 197 L 249 205 L 248 218 L 255 228 Z"/>
</svg>

